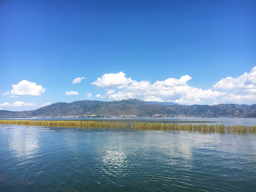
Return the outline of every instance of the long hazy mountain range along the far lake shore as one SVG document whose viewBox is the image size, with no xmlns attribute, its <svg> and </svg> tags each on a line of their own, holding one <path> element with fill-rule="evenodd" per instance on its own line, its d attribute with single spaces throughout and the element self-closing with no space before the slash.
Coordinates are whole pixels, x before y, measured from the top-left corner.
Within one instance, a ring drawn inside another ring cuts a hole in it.
<svg viewBox="0 0 256 192">
<path fill-rule="evenodd" d="M 160 105 L 162 104 L 162 105 Z M 167 105 L 168 104 L 168 105 Z M 90 117 L 90 116 L 187 116 L 187 117 L 256 117 L 256 105 L 174 105 L 169 102 L 121 101 L 58 102 L 31 111 L 0 110 L 0 118 L 17 117 Z"/>
</svg>

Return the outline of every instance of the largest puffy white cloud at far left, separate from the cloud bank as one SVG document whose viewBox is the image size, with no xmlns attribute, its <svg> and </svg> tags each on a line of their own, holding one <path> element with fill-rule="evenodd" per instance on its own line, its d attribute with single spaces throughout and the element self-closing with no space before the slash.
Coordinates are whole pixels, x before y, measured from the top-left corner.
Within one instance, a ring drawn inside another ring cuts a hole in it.
<svg viewBox="0 0 256 192">
<path fill-rule="evenodd" d="M 41 85 L 36 85 L 36 83 L 23 80 L 17 85 L 12 85 L 11 94 L 12 95 L 33 95 L 39 96 L 41 93 L 45 92 L 45 88 Z"/>
</svg>

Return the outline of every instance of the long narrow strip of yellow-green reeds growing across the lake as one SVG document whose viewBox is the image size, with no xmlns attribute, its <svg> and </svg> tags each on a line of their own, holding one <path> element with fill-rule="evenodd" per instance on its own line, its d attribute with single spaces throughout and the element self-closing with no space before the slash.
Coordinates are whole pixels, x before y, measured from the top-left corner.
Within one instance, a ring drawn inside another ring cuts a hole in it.
<svg viewBox="0 0 256 192">
<path fill-rule="evenodd" d="M 101 129 L 132 129 L 154 131 L 187 131 L 204 133 L 256 133 L 256 126 L 244 125 L 206 125 L 206 124 L 171 124 L 171 123 L 123 123 L 97 121 L 26 121 L 0 120 L 0 124 L 17 124 L 28 126 L 57 126 Z"/>
</svg>

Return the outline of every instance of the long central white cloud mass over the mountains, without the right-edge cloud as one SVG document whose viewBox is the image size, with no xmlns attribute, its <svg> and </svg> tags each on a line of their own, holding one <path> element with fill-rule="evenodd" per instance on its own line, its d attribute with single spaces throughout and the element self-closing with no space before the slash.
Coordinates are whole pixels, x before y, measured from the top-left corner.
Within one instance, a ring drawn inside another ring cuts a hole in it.
<svg viewBox="0 0 256 192">
<path fill-rule="evenodd" d="M 110 77 L 109 74 L 105 74 L 92 84 L 105 89 L 108 88 L 105 97 L 110 100 L 141 99 L 144 101 L 174 101 L 180 104 L 195 104 L 203 103 L 205 100 L 210 100 L 213 103 L 218 97 L 226 94 L 226 92 L 212 91 L 211 89 L 202 90 L 188 86 L 187 82 L 191 79 L 188 75 L 179 79 L 168 78 L 151 84 L 149 81 L 137 82 L 131 78 L 126 78 L 122 72 L 119 74 L 121 74 L 118 75 L 119 78 L 116 77 L 116 74 L 111 74 Z M 120 78 L 124 81 L 118 84 L 117 79 Z M 115 89 L 121 90 L 116 92 Z M 101 95 L 96 95 L 96 97 L 103 98 Z"/>
</svg>

